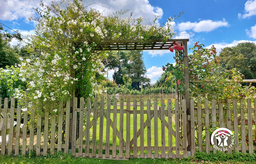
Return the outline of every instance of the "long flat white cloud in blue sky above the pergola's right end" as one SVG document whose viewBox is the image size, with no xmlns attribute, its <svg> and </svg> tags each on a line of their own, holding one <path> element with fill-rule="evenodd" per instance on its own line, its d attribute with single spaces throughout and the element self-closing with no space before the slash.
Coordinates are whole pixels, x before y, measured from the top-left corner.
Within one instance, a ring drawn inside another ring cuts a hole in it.
<svg viewBox="0 0 256 164">
<path fill-rule="evenodd" d="M 212 21 L 212 20 L 202 20 L 199 22 L 182 22 L 178 25 L 179 31 L 192 30 L 194 32 L 209 32 L 215 30 L 219 27 L 227 27 L 228 22 L 223 19 L 223 21 Z"/>
</svg>

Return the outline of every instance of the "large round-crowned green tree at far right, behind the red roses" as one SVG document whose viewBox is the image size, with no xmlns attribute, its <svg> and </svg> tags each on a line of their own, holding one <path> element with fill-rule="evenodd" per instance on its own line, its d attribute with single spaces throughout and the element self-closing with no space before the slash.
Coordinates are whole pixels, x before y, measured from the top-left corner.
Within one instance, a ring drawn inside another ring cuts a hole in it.
<svg viewBox="0 0 256 164">
<path fill-rule="evenodd" d="M 220 63 L 224 69 L 236 68 L 244 75 L 244 79 L 256 79 L 256 45 L 239 43 L 234 47 L 221 49 Z"/>
</svg>

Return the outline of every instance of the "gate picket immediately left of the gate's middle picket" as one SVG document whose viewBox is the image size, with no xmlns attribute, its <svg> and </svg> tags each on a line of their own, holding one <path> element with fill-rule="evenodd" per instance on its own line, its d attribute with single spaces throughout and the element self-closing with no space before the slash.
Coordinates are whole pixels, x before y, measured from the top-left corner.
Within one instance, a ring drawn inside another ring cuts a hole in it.
<svg viewBox="0 0 256 164">
<path fill-rule="evenodd" d="M 124 150 L 124 99 L 120 99 L 120 115 L 119 115 L 119 158 L 123 157 Z"/>
</svg>

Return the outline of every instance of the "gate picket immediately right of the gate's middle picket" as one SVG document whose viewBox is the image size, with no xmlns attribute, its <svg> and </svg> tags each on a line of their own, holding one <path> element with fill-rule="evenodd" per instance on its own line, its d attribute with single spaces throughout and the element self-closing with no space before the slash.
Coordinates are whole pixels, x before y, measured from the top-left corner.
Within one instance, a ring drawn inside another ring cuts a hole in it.
<svg viewBox="0 0 256 164">
<path fill-rule="evenodd" d="M 133 101 L 133 156 L 137 158 L 137 100 Z"/>
</svg>

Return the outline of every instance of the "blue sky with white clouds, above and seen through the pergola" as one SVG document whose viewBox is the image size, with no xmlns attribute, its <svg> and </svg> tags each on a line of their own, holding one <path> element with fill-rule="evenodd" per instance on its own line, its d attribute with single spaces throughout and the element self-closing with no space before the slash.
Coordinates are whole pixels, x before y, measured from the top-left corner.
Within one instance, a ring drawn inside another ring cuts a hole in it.
<svg viewBox="0 0 256 164">
<path fill-rule="evenodd" d="M 52 0 L 44 0 L 50 4 Z M 40 0 L 0 0 L 0 23 L 19 30 L 22 35 L 33 34 L 34 23 L 28 20 L 33 7 L 39 7 Z M 58 2 L 58 1 L 57 1 Z M 97 2 L 109 8 L 105 13 L 119 10 L 134 12 L 134 17 L 142 16 L 153 20 L 159 16 L 158 23 L 178 13 L 184 13 L 172 22 L 177 32 L 175 38 L 189 39 L 188 48 L 196 41 L 207 48 L 212 44 L 217 48 L 236 46 L 238 43 L 256 43 L 256 0 L 87 0 L 85 3 Z M 105 8 L 92 4 L 92 8 L 103 11 Z M 144 23 L 147 23 L 144 21 Z M 5 28 L 9 32 L 10 29 Z M 17 44 L 13 40 L 12 44 Z M 147 77 L 151 83 L 156 82 L 162 73 L 162 66 L 174 63 L 174 54 L 170 51 L 145 51 L 144 63 Z M 111 71 L 109 71 L 111 76 Z"/>
</svg>

